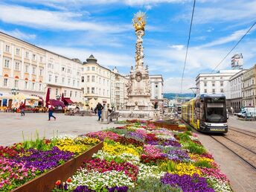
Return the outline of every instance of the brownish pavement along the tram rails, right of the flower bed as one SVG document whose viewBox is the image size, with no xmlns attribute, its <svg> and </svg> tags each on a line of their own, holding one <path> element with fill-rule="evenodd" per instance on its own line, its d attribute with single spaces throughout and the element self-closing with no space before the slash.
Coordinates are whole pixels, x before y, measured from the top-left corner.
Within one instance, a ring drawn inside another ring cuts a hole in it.
<svg viewBox="0 0 256 192">
<path fill-rule="evenodd" d="M 242 137 L 239 136 L 239 133 L 228 130 L 228 133 L 225 135 L 228 138 L 237 139 L 238 143 L 245 145 L 245 147 L 251 147 L 250 149 L 255 149 L 255 141 L 252 141 L 252 138 L 249 139 L 249 135 Z M 240 191 L 256 191 L 256 170 L 253 169 L 249 164 L 240 159 L 239 156 L 235 155 L 225 148 L 222 144 L 218 143 L 211 138 L 210 135 L 203 134 L 201 132 L 195 131 L 199 135 L 199 140 L 202 144 L 208 149 L 210 153 L 214 155 L 215 161 L 217 164 L 220 164 L 220 169 L 228 176 L 228 179 L 231 182 L 231 187 L 235 192 Z M 246 132 L 246 131 L 245 131 Z M 234 144 L 232 141 L 224 138 L 223 136 L 214 136 L 220 142 L 225 144 L 227 147 L 230 147 L 240 156 L 246 157 L 246 160 L 251 163 L 256 162 L 255 153 L 245 150 L 243 147 L 240 147 L 237 144 Z"/>
</svg>

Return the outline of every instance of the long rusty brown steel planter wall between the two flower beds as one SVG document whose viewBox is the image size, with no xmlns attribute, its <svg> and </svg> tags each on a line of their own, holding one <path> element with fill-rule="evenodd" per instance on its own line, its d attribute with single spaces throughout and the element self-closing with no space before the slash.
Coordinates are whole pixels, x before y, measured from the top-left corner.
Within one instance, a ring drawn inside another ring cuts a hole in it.
<svg viewBox="0 0 256 192">
<path fill-rule="evenodd" d="M 84 159 L 91 159 L 94 153 L 97 153 L 98 150 L 101 150 L 103 147 L 103 142 L 95 145 L 94 147 L 86 150 L 86 152 L 82 153 L 80 156 L 77 156 L 74 159 L 71 159 L 65 164 L 61 164 L 60 166 L 50 170 L 47 173 L 42 174 L 41 176 L 36 177 L 30 182 L 25 183 L 24 185 L 16 188 L 15 192 L 50 192 L 55 187 L 55 182 L 57 180 L 61 180 L 62 182 L 66 181 L 68 177 L 74 175 L 77 169 L 81 166 Z"/>
</svg>

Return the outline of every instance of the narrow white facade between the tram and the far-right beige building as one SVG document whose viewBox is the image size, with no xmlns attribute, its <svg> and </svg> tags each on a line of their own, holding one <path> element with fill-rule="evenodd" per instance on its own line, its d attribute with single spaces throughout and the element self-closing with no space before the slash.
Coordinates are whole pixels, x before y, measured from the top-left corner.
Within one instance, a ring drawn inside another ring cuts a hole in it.
<svg viewBox="0 0 256 192">
<path fill-rule="evenodd" d="M 230 98 L 227 100 L 228 106 L 232 106 L 234 112 L 240 112 L 242 107 L 242 86 L 243 86 L 243 74 L 246 70 L 241 70 L 237 74 L 234 74 L 229 80 L 229 92 Z"/>
</svg>

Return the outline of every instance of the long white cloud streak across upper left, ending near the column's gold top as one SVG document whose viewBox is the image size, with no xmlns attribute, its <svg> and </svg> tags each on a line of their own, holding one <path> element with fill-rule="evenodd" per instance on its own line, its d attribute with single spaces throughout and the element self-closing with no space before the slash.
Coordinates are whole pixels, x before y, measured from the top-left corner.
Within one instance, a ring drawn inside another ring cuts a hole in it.
<svg viewBox="0 0 256 192">
<path fill-rule="evenodd" d="M 39 10 L 28 7 L 0 4 L 0 20 L 30 28 L 63 31 L 98 31 L 118 33 L 132 29 L 132 25 L 111 25 L 92 21 L 83 22 L 81 13 Z"/>
</svg>

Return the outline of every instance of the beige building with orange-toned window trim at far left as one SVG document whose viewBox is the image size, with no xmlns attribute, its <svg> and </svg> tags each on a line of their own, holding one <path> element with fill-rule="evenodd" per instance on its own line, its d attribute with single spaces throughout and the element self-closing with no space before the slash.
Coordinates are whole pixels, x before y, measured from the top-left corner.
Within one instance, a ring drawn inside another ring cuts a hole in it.
<svg viewBox="0 0 256 192">
<path fill-rule="evenodd" d="M 0 106 L 11 106 L 11 94 L 44 97 L 44 74 L 45 50 L 0 32 Z"/>
</svg>

